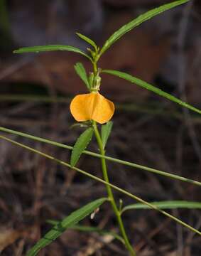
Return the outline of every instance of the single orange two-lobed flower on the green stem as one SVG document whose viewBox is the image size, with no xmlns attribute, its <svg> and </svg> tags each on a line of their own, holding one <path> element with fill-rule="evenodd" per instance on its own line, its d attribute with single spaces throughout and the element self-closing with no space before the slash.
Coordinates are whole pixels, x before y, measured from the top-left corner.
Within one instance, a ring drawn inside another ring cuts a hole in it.
<svg viewBox="0 0 201 256">
<path fill-rule="evenodd" d="M 104 124 L 114 114 L 114 103 L 99 92 L 90 92 L 75 96 L 70 103 L 70 112 L 78 122 L 94 120 L 99 124 Z"/>
</svg>

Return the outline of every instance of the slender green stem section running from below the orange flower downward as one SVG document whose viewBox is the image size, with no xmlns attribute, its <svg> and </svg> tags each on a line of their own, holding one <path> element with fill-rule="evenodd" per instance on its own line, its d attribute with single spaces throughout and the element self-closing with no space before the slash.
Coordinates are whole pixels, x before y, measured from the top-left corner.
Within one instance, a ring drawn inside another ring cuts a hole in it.
<svg viewBox="0 0 201 256">
<path fill-rule="evenodd" d="M 105 151 L 104 151 L 104 148 L 103 148 L 103 145 L 102 145 L 102 138 L 100 137 L 99 130 L 97 129 L 97 123 L 95 121 L 92 121 L 92 124 L 93 124 L 93 128 L 94 128 L 94 134 L 95 134 L 95 137 L 97 138 L 97 143 L 99 145 L 100 154 L 102 156 L 104 156 Z M 107 164 L 106 164 L 106 161 L 105 161 L 104 158 L 102 158 L 101 162 L 102 162 L 102 173 L 103 173 L 104 181 L 109 183 L 109 177 L 108 177 L 108 174 L 107 174 Z M 129 250 L 131 256 L 136 256 L 136 252 L 134 252 L 134 249 L 131 246 L 131 244 L 129 242 L 129 239 L 128 239 L 127 235 L 126 235 L 126 231 L 125 231 L 125 228 L 124 228 L 124 223 L 123 223 L 123 221 L 121 219 L 121 213 L 119 212 L 119 210 L 118 210 L 118 208 L 116 206 L 116 203 L 114 201 L 114 196 L 113 196 L 113 193 L 112 193 L 112 189 L 108 185 L 106 185 L 106 188 L 107 188 L 107 194 L 109 196 L 109 201 L 110 201 L 110 203 L 112 205 L 112 208 L 114 210 L 114 213 L 116 215 L 116 220 L 117 220 L 117 222 L 119 224 L 119 229 L 121 230 L 121 235 L 124 238 L 125 246 L 126 246 L 127 250 Z"/>
</svg>

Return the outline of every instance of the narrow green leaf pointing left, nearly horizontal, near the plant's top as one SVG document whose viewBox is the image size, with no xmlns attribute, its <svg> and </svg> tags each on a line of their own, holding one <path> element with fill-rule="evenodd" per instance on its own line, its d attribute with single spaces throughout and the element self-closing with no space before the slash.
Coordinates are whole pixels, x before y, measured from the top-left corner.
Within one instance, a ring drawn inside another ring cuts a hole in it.
<svg viewBox="0 0 201 256">
<path fill-rule="evenodd" d="M 60 46 L 60 45 L 49 45 L 49 46 L 33 46 L 33 47 L 23 47 L 19 48 L 18 50 L 14 50 L 13 53 L 39 53 L 39 52 L 45 52 L 50 50 L 67 50 L 74 53 L 80 53 L 84 55 L 85 57 L 91 59 L 89 55 L 84 53 L 79 48 L 76 48 L 74 46 Z"/>
</svg>

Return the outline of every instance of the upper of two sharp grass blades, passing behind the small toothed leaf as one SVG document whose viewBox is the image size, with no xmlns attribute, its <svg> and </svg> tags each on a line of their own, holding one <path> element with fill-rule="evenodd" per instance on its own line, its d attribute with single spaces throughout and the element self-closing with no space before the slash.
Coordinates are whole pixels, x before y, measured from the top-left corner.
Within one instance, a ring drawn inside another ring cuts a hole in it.
<svg viewBox="0 0 201 256">
<path fill-rule="evenodd" d="M 50 145 L 53 145 L 53 146 L 58 146 L 58 147 L 61 147 L 63 149 L 70 149 L 70 150 L 72 150 L 72 148 L 73 148 L 72 146 L 61 144 L 59 142 L 53 142 L 50 139 L 43 139 L 43 138 L 36 137 L 36 136 L 30 135 L 30 134 L 26 134 L 26 133 L 23 133 L 23 132 L 17 132 L 17 131 L 14 131 L 12 129 L 7 129 L 5 127 L 0 127 L 0 131 L 1 132 L 6 132 L 6 133 L 9 133 L 9 134 L 15 134 L 15 135 L 18 135 L 20 137 L 25 137 L 25 138 L 28 138 L 28 139 L 33 139 L 36 142 L 43 142 L 43 143 L 50 144 Z M 104 158 L 104 159 L 107 159 L 108 161 L 113 161 L 115 163 L 123 164 L 125 166 L 130 166 L 130 167 L 133 167 L 133 168 L 136 168 L 136 169 L 140 169 L 140 170 L 143 170 L 143 171 L 149 171 L 149 172 L 151 172 L 153 174 L 158 174 L 158 175 L 165 176 L 165 177 L 168 177 L 168 178 L 173 178 L 173 179 L 178 180 L 178 181 L 184 181 L 184 182 L 192 183 L 192 184 L 197 185 L 197 186 L 201 186 L 201 182 L 200 181 L 194 181 L 194 180 L 192 180 L 190 178 L 185 178 L 183 176 L 178 176 L 178 175 L 175 175 L 175 174 L 170 174 L 170 173 L 168 173 L 166 171 L 160 171 L 160 170 L 153 169 L 153 168 L 150 168 L 150 167 L 147 167 L 147 166 L 142 166 L 140 164 L 134 164 L 134 163 L 131 163 L 129 161 L 124 161 L 124 160 L 121 160 L 121 159 L 115 159 L 115 158 L 113 158 L 111 156 L 102 156 L 102 155 L 94 153 L 92 151 L 84 150 L 82 153 L 83 154 L 87 154 L 89 156 L 97 157 L 99 159 Z"/>
</svg>

